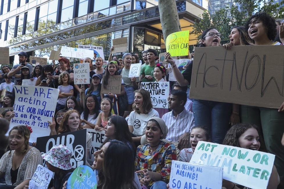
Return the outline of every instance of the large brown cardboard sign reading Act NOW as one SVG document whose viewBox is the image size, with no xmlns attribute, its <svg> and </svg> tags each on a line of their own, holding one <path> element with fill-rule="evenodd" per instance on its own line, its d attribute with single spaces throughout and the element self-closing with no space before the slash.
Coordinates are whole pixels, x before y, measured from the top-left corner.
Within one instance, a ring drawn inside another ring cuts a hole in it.
<svg viewBox="0 0 284 189">
<path fill-rule="evenodd" d="M 195 48 L 190 98 L 279 108 L 283 52 L 283 45 Z"/>
</svg>

